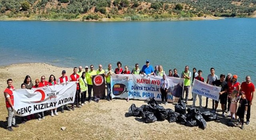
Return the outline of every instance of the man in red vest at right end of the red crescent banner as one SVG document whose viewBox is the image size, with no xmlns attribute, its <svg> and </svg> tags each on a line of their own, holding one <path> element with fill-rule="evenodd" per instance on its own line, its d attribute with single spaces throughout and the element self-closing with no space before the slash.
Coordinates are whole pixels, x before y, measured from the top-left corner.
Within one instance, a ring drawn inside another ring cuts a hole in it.
<svg viewBox="0 0 256 140">
<path fill-rule="evenodd" d="M 79 106 L 79 101 L 80 101 L 80 88 L 79 88 L 79 75 L 76 74 L 77 72 L 77 67 L 74 67 L 73 69 L 73 74 L 70 75 L 69 81 L 76 81 L 76 96 L 75 96 L 75 101 L 72 105 L 72 110 L 75 110 L 74 108 L 74 104 L 76 104 L 76 107 L 81 108 L 81 106 Z"/>
</svg>

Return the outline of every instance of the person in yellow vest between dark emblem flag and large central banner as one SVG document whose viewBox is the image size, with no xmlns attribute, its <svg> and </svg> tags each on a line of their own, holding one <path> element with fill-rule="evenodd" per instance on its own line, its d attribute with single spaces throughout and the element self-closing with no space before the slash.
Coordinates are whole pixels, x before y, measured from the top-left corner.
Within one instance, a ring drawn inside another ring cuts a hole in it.
<svg viewBox="0 0 256 140">
<path fill-rule="evenodd" d="M 112 100 L 111 98 L 111 75 L 114 74 L 114 70 L 112 69 L 112 64 L 108 64 L 108 69 L 105 70 L 105 78 L 106 78 L 106 84 L 107 84 L 107 100 Z"/>
</svg>

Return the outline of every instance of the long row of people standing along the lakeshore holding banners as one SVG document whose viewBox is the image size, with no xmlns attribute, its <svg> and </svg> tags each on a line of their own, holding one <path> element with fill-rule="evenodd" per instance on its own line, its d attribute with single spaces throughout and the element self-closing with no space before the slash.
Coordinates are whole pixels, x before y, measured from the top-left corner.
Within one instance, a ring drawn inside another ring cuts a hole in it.
<svg viewBox="0 0 256 140">
<path fill-rule="evenodd" d="M 88 90 L 88 102 L 91 102 L 94 100 L 94 95 L 92 96 L 92 76 L 97 74 L 104 74 L 106 78 L 106 86 L 107 86 L 107 97 L 106 100 L 110 101 L 112 100 L 111 97 L 111 75 L 112 74 L 143 74 L 143 75 L 154 75 L 154 76 L 162 76 L 162 79 L 160 80 L 160 92 L 162 94 L 162 102 L 165 102 L 164 104 L 167 104 L 167 94 L 168 94 L 168 88 L 169 88 L 169 82 L 166 79 L 166 76 L 170 77 L 176 77 L 176 78 L 184 78 L 184 87 L 183 87 L 183 94 L 186 92 L 185 95 L 185 102 L 186 104 L 188 101 L 193 101 L 192 107 L 195 107 L 196 97 L 197 94 L 192 93 L 192 99 L 188 99 L 188 93 L 189 88 L 192 86 L 192 82 L 194 79 L 204 82 L 204 78 L 202 77 L 202 70 L 198 70 L 196 72 L 196 68 L 193 68 L 193 73 L 189 71 L 189 66 L 185 66 L 184 71 L 181 73 L 181 77 L 178 74 L 178 71 L 176 68 L 174 68 L 172 73 L 172 70 L 169 70 L 168 75 L 165 74 L 163 67 L 161 65 L 155 66 L 153 68 L 150 65 L 149 60 L 146 60 L 146 64 L 142 67 L 142 69 L 139 68 L 139 64 L 136 63 L 135 67 L 130 71 L 128 69 L 128 66 L 124 66 L 124 69 L 122 68 L 122 63 L 117 62 L 117 68 L 115 70 L 112 69 L 112 64 L 108 64 L 108 68 L 106 70 L 103 70 L 102 65 L 100 64 L 98 66 L 97 70 L 94 70 L 94 65 L 90 65 L 90 70 L 88 66 L 85 66 L 85 71 L 82 71 L 82 66 L 74 67 L 73 73 L 70 76 L 66 76 L 66 71 L 62 71 L 62 76 L 60 76 L 57 80 L 53 74 L 49 76 L 49 80 L 46 81 L 45 76 L 41 76 L 41 79 L 38 78 L 35 79 L 35 85 L 32 83 L 32 79 L 30 76 L 26 76 L 24 79 L 24 82 L 21 84 L 21 88 L 26 89 L 32 89 L 32 88 L 38 88 L 38 87 L 44 87 L 44 86 L 52 86 L 56 84 L 65 84 L 66 82 L 72 82 L 76 81 L 76 95 L 74 103 L 71 104 L 71 109 L 74 110 L 74 105 L 76 107 L 81 108 L 81 106 L 84 106 L 86 104 L 86 92 Z M 207 76 L 206 83 L 212 84 L 215 86 L 221 87 L 220 92 L 220 104 L 222 108 L 222 116 L 224 115 L 224 112 L 230 111 L 230 116 L 232 118 L 233 114 L 239 116 L 240 121 L 242 123 L 242 128 L 244 124 L 244 114 L 246 114 L 246 124 L 249 124 L 250 122 L 250 107 L 252 105 L 253 100 L 253 93 L 254 93 L 254 84 L 250 82 L 250 76 L 246 76 L 246 82 L 243 82 L 241 85 L 239 82 L 237 82 L 238 76 L 228 74 L 226 76 L 221 74 L 220 80 L 218 80 L 218 76 L 214 73 L 214 68 L 210 68 L 210 74 Z M 14 86 L 12 85 L 12 79 L 7 80 L 8 87 L 6 90 L 4 90 L 4 96 L 6 98 L 6 108 L 8 110 L 8 127 L 7 130 L 12 131 L 13 127 L 18 127 L 18 125 L 15 123 L 15 116 L 14 116 L 14 98 L 12 91 L 15 90 Z M 241 97 L 241 98 L 240 98 Z M 183 98 L 183 96 L 181 96 Z M 202 96 L 198 95 L 199 98 L 199 104 L 200 108 L 202 108 Z M 127 98 L 127 101 L 129 101 L 129 98 Z M 219 101 L 212 100 L 212 112 L 216 112 L 216 109 L 218 108 Z M 239 107 L 237 110 L 237 103 L 239 103 Z M 206 106 L 208 107 L 208 98 L 206 98 Z M 64 109 L 70 110 L 68 106 L 61 106 L 60 107 L 61 112 L 64 113 Z M 51 116 L 58 116 L 57 108 L 50 110 Z M 40 112 L 37 114 L 38 120 L 45 119 L 44 112 Z M 30 120 L 31 118 L 34 118 L 34 115 L 29 115 L 26 117 L 22 117 L 22 123 L 25 123 L 27 120 Z"/>
</svg>

